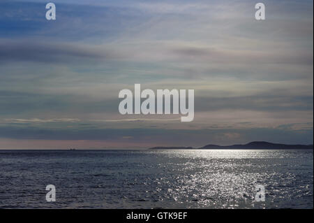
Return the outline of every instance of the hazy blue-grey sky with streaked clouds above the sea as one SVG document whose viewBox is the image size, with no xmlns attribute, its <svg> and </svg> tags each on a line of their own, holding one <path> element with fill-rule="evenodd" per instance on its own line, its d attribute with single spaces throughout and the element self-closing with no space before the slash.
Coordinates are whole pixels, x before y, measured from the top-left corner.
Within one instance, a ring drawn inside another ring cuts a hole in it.
<svg viewBox="0 0 314 223">
<path fill-rule="evenodd" d="M 313 1 L 0 1 L 0 148 L 313 144 Z M 194 89 L 195 118 L 121 115 Z"/>
</svg>

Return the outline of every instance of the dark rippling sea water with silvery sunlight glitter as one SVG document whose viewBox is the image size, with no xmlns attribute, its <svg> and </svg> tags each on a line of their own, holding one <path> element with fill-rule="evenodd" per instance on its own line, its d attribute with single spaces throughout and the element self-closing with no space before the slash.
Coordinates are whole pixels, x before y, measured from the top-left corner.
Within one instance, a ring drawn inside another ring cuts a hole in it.
<svg viewBox="0 0 314 223">
<path fill-rule="evenodd" d="M 313 208 L 313 150 L 0 150 L 0 208 Z"/>
</svg>

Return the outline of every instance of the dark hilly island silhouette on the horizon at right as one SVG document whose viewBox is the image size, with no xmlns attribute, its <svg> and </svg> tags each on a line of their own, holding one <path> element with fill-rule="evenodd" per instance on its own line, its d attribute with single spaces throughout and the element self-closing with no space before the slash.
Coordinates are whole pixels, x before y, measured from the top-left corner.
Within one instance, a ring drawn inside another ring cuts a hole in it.
<svg viewBox="0 0 314 223">
<path fill-rule="evenodd" d="M 205 145 L 202 148 L 193 147 L 154 147 L 149 150 L 313 150 L 313 145 L 288 145 L 254 141 L 247 144 L 236 145 Z"/>
</svg>

